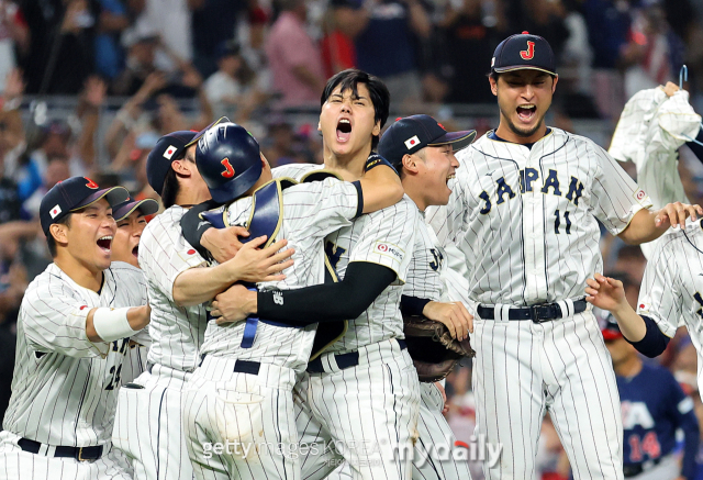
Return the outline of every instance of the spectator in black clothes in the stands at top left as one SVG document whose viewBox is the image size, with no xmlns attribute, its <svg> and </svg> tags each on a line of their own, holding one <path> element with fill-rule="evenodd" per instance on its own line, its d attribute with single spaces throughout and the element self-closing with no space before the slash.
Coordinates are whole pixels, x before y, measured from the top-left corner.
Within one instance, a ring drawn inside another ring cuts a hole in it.
<svg viewBox="0 0 703 480">
<path fill-rule="evenodd" d="M 31 38 L 26 91 L 78 93 L 93 71 L 98 0 L 26 1 L 22 12 Z"/>
</svg>

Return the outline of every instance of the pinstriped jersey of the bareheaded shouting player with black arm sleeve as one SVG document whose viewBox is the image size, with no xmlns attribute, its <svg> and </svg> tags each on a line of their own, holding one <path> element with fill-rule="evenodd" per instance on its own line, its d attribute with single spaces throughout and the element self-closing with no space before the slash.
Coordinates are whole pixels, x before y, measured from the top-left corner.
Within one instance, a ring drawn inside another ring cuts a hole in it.
<svg viewBox="0 0 703 480">
<path fill-rule="evenodd" d="M 294 165 L 272 171 L 275 177 L 298 179 L 323 167 Z M 325 253 L 339 279 L 344 278 L 352 261 L 379 264 L 398 275 L 398 279 L 376 298 L 371 306 L 349 321 L 345 336 L 326 351 L 352 351 L 384 339 L 404 338 L 399 303 L 415 242 L 416 212 L 413 201 L 404 196 L 394 205 L 362 215 L 325 238 Z"/>
</svg>

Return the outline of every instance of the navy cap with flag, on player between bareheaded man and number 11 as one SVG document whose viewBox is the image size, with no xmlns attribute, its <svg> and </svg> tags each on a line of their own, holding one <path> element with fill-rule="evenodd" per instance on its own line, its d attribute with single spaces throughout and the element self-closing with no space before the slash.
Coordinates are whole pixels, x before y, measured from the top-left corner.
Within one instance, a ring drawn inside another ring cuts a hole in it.
<svg viewBox="0 0 703 480">
<path fill-rule="evenodd" d="M 476 138 L 475 130 L 447 132 L 429 115 L 412 115 L 395 119 L 378 143 L 378 153 L 394 167 L 405 154 L 412 155 L 421 148 L 450 144 L 455 152 L 467 147 Z"/>
</svg>

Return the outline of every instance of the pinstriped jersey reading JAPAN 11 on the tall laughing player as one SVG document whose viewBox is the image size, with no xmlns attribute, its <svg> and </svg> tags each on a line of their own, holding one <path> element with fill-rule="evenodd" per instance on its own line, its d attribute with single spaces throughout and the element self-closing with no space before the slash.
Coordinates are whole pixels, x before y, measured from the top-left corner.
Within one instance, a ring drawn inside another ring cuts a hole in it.
<svg viewBox="0 0 703 480">
<path fill-rule="evenodd" d="M 449 204 L 427 217 L 442 245 L 466 255 L 473 302 L 583 297 L 603 265 L 595 219 L 616 235 L 651 204 L 605 150 L 559 129 L 532 148 L 483 135 L 456 156 Z"/>
</svg>

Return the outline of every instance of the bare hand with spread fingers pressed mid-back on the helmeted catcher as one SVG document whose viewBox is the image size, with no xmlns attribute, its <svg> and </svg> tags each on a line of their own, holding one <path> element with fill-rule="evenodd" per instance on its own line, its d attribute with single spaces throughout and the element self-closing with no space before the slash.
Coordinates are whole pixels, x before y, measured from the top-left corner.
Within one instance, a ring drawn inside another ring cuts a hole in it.
<svg viewBox="0 0 703 480">
<path fill-rule="evenodd" d="M 239 281 L 258 283 L 260 281 L 283 280 L 286 276 L 281 271 L 293 265 L 290 257 L 295 253 L 295 249 L 287 248 L 279 252 L 288 245 L 286 239 L 259 249 L 265 242 L 266 235 L 254 238 L 244 244 L 237 255 L 223 265 L 228 265 Z"/>
</svg>

